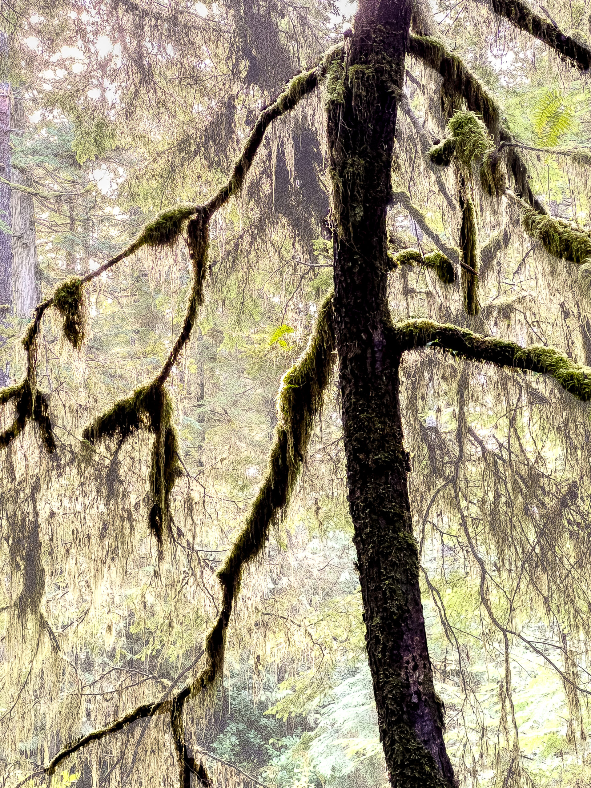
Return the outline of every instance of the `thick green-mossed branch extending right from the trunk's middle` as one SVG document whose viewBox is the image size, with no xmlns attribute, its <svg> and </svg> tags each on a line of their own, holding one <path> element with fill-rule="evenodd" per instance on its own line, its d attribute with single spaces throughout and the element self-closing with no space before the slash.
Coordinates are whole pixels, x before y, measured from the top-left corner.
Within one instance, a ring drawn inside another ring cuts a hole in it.
<svg viewBox="0 0 591 788">
<path fill-rule="evenodd" d="M 397 323 L 393 330 L 401 354 L 414 348 L 440 348 L 465 359 L 548 375 L 578 400 L 591 401 L 591 368 L 574 363 L 554 348 L 541 345 L 522 348 L 496 336 L 481 336 L 455 325 L 441 325 L 430 320 Z"/>
</svg>

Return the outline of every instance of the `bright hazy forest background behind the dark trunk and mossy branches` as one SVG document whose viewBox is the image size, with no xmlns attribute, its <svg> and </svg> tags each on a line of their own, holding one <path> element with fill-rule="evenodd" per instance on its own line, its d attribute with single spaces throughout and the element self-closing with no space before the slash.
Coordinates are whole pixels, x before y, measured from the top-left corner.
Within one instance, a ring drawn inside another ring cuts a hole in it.
<svg viewBox="0 0 591 788">
<path fill-rule="evenodd" d="M 589 0 L 545 2 L 537 13 L 589 38 Z M 589 80 L 487 6 L 432 9 L 499 99 L 535 194 L 588 230 Z M 22 375 L 35 304 L 162 208 L 211 195 L 258 112 L 342 40 L 354 11 L 329 0 L 2 2 L 2 385 Z M 407 59 L 394 248 L 458 245 L 455 183 L 426 156 L 444 135 L 435 84 Z M 90 449 L 80 436 L 168 354 L 191 283 L 184 244 L 91 282 L 80 351 L 58 314 L 45 322 L 39 385 L 58 448 L 46 455 L 29 426 L 0 460 L 2 786 L 44 784 L 28 775 L 59 748 L 199 665 L 215 572 L 265 472 L 279 381 L 332 286 L 324 125 L 319 90 L 269 130 L 246 190 L 212 225 L 206 307 L 171 378 L 184 475 L 161 555 L 147 526 L 149 439 Z M 394 318 L 468 325 L 591 364 L 591 264 L 546 255 L 510 203 L 480 196 L 478 210 L 481 315 L 466 318 L 459 287 L 417 266 L 392 274 Z M 544 377 L 429 351 L 407 355 L 402 377 L 429 651 L 460 785 L 514 785 L 504 764 L 518 748 L 522 784 L 589 786 L 589 406 Z M 10 418 L 4 407 L 2 429 Z M 216 786 L 388 784 L 340 431 L 333 386 L 295 500 L 244 578 L 223 686 L 185 707 Z M 157 716 L 76 753 L 52 784 L 177 781 Z"/>
</svg>

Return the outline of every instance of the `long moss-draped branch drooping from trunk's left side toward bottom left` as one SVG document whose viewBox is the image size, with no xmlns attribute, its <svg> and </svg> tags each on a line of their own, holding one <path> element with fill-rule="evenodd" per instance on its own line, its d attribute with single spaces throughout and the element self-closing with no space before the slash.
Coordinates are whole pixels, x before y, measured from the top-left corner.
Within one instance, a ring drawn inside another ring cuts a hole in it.
<svg viewBox="0 0 591 788">
<path fill-rule="evenodd" d="M 266 477 L 262 481 L 258 496 L 252 504 L 251 512 L 244 523 L 229 556 L 218 571 L 221 583 L 221 611 L 217 621 L 206 637 L 206 667 L 194 682 L 171 697 L 165 693 L 159 701 L 143 704 L 115 720 L 110 725 L 94 730 L 71 745 L 62 749 L 46 767 L 46 774 L 52 775 L 66 757 L 90 742 L 96 742 L 106 735 L 123 730 L 137 719 L 169 712 L 171 727 L 175 735 L 177 762 L 179 764 L 181 785 L 188 779 L 191 763 L 182 742 L 183 705 L 189 697 L 195 697 L 203 690 L 214 686 L 221 674 L 224 663 L 225 633 L 228 629 L 232 608 L 240 590 L 244 568 L 262 552 L 269 529 L 273 522 L 288 505 L 290 496 L 302 469 L 314 418 L 322 409 L 325 388 L 329 384 L 334 364 L 334 327 L 333 294 L 327 296 L 318 310 L 314 331 L 310 336 L 303 355 L 284 374 L 277 398 L 278 423 L 275 439 L 269 452 Z M 206 775 L 203 775 L 206 784 Z"/>
</svg>

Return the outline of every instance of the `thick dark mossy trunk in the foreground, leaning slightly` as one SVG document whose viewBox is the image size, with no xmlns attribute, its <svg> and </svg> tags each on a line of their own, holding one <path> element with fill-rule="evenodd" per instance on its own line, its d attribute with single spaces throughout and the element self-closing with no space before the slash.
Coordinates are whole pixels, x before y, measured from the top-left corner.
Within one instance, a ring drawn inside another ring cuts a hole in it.
<svg viewBox="0 0 591 788">
<path fill-rule="evenodd" d="M 397 348 L 386 299 L 386 210 L 411 0 L 362 0 L 329 73 L 335 330 L 366 645 L 392 786 L 450 788 L 407 490 Z"/>
</svg>

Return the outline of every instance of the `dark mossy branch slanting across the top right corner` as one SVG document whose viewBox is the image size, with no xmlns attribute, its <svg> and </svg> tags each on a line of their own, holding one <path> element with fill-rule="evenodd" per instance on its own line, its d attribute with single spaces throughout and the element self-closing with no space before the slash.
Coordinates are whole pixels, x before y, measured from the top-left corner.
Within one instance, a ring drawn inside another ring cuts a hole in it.
<svg viewBox="0 0 591 788">
<path fill-rule="evenodd" d="M 492 10 L 499 17 L 543 41 L 564 60 L 572 61 L 583 71 L 587 71 L 591 66 L 591 48 L 587 44 L 571 38 L 557 28 L 556 24 L 542 19 L 523 0 L 489 0 L 489 2 Z"/>
</svg>

